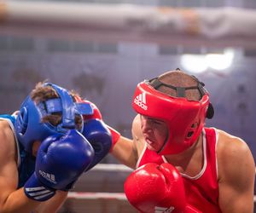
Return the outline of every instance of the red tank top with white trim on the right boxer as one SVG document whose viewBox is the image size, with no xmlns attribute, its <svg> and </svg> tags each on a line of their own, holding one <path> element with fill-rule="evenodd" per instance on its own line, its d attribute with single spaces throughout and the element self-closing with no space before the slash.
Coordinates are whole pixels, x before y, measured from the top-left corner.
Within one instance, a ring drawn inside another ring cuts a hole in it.
<svg viewBox="0 0 256 213">
<path fill-rule="evenodd" d="M 213 128 L 205 128 L 203 130 L 204 163 L 201 172 L 193 177 L 181 174 L 188 203 L 207 213 L 221 212 L 218 207 L 217 137 L 217 130 Z M 163 164 L 166 162 L 164 156 L 148 150 L 145 144 L 143 153 L 137 161 L 137 167 L 148 163 Z"/>
</svg>

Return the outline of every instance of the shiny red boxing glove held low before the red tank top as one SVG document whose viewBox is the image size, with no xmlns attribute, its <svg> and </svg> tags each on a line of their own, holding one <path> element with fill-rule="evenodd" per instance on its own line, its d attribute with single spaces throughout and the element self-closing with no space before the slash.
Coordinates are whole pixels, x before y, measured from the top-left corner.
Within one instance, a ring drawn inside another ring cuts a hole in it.
<svg viewBox="0 0 256 213">
<path fill-rule="evenodd" d="M 149 163 L 134 170 L 125 181 L 125 195 L 143 213 L 200 212 L 186 204 L 183 178 L 172 164 Z"/>
</svg>

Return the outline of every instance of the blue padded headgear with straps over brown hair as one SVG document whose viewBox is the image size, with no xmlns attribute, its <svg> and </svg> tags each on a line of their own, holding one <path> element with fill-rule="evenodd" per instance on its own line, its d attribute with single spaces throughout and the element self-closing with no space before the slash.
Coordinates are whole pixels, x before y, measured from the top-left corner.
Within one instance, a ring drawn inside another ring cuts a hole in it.
<svg viewBox="0 0 256 213">
<path fill-rule="evenodd" d="M 15 121 L 15 132 L 18 140 L 28 153 L 32 153 L 34 141 L 44 141 L 49 135 L 64 135 L 67 130 L 76 129 L 75 115 L 92 115 L 93 108 L 90 103 L 76 103 L 67 89 L 63 89 L 53 83 L 44 83 L 43 86 L 51 86 L 59 95 L 58 98 L 35 103 L 30 95 L 26 97 L 20 107 L 20 112 Z M 61 124 L 43 123 L 42 118 L 53 112 L 62 114 Z M 82 130 L 84 121 L 82 118 Z"/>
</svg>

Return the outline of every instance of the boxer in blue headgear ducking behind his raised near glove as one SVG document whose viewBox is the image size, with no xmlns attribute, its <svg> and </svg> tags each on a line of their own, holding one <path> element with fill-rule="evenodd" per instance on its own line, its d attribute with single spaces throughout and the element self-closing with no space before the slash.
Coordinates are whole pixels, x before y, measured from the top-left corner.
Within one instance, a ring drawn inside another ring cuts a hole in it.
<svg viewBox="0 0 256 213">
<path fill-rule="evenodd" d="M 38 83 L 20 112 L 0 116 L 0 212 L 60 208 L 94 160 L 81 134 L 83 115 L 92 113 L 90 104 L 77 103 L 67 89 Z"/>
</svg>

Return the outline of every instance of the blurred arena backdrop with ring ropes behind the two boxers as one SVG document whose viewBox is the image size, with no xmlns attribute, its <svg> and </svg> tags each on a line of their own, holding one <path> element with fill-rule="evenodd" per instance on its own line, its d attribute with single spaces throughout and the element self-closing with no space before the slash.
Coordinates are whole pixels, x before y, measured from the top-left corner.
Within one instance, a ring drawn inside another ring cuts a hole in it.
<svg viewBox="0 0 256 213">
<path fill-rule="evenodd" d="M 0 112 L 47 79 L 131 137 L 137 83 L 179 67 L 206 83 L 215 108 L 207 126 L 241 137 L 255 159 L 255 9 L 255 0 L 0 1 Z M 61 212 L 136 212 L 123 194 L 130 172 L 109 154 Z"/>
</svg>

